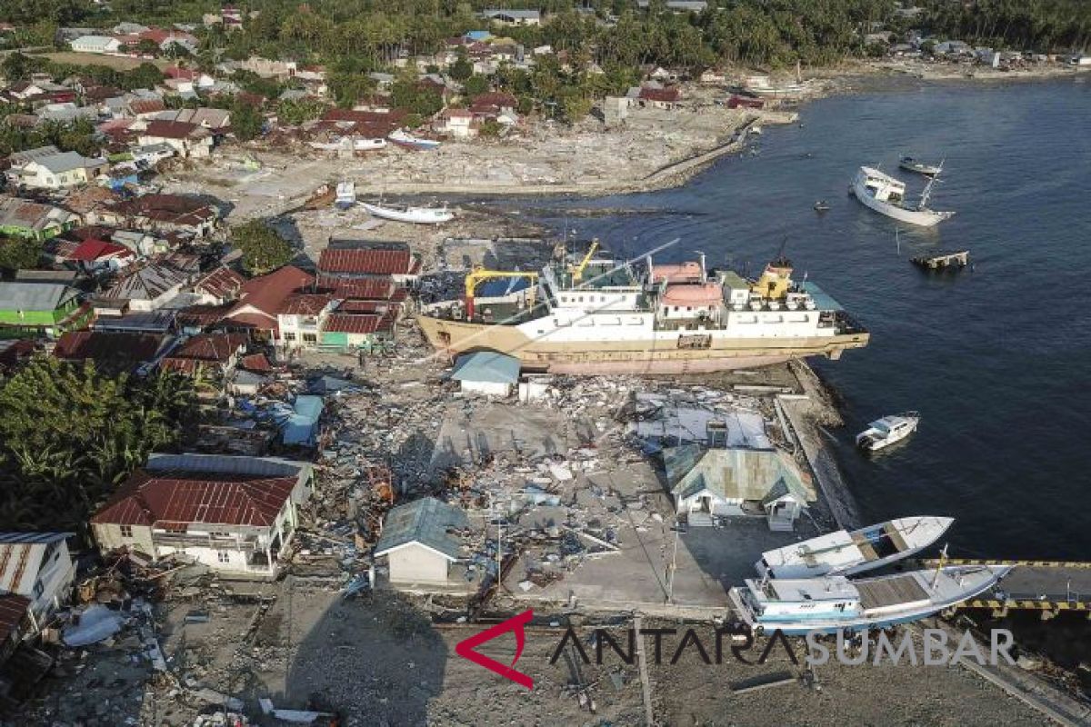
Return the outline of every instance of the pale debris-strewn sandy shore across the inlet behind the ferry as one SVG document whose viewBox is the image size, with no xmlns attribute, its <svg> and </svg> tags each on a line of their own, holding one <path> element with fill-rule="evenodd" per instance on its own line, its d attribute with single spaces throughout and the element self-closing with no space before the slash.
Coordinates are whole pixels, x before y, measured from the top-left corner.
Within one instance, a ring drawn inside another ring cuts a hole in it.
<svg viewBox="0 0 1091 727">
<path fill-rule="evenodd" d="M 167 192 L 207 193 L 229 201 L 232 222 L 280 214 L 320 185 L 343 180 L 355 181 L 357 193 L 364 196 L 608 194 L 676 183 L 704 163 L 702 155 L 735 148 L 723 147 L 755 118 L 760 123 L 794 118 L 717 106 L 712 99 L 722 100 L 722 90 L 695 88 L 692 94 L 687 108 L 632 109 L 616 129 L 595 119 L 574 128 L 546 122 L 503 140 L 447 142 L 434 152 L 389 145 L 343 159 L 298 142 L 230 146 L 212 159 L 176 168 L 163 182 Z M 674 165 L 694 157 L 693 169 L 683 166 L 671 173 Z M 250 160 L 261 168 L 254 169 Z"/>
</svg>

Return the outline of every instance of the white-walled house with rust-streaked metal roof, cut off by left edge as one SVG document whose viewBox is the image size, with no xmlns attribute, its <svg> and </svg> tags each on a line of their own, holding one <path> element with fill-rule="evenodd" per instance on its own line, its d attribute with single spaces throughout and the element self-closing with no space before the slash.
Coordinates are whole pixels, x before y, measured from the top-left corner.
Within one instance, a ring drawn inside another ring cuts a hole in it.
<svg viewBox="0 0 1091 727">
<path fill-rule="evenodd" d="M 29 601 L 34 631 L 68 603 L 75 564 L 68 549 L 72 533 L 0 533 L 0 594 Z"/>
</svg>

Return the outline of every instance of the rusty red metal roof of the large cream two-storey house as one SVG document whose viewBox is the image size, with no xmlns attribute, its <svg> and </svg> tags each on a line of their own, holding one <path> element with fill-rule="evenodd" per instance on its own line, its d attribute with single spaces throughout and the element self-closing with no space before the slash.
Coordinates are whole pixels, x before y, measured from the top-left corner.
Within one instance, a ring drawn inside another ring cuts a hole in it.
<svg viewBox="0 0 1091 727">
<path fill-rule="evenodd" d="M 96 512 L 93 523 L 272 525 L 293 477 L 137 471 Z"/>
</svg>

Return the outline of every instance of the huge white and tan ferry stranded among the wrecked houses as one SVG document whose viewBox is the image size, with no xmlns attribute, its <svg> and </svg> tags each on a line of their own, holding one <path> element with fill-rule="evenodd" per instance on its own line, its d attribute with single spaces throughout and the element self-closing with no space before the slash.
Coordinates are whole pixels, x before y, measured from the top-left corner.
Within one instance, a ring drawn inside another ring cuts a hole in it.
<svg viewBox="0 0 1091 727">
<path fill-rule="evenodd" d="M 418 322 L 449 355 L 499 351 L 524 369 L 564 374 L 699 373 L 825 355 L 867 344 L 868 332 L 817 284 L 792 280 L 783 256 L 757 280 L 700 262 L 655 265 L 595 256 L 540 272 L 475 269 L 466 296 L 424 305 Z M 476 296 L 491 278 L 529 284 Z"/>
</svg>

